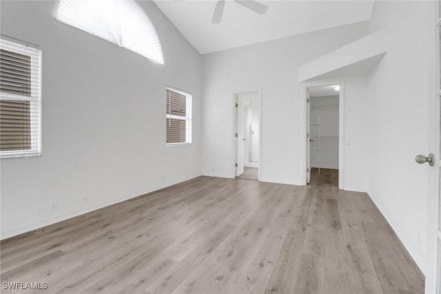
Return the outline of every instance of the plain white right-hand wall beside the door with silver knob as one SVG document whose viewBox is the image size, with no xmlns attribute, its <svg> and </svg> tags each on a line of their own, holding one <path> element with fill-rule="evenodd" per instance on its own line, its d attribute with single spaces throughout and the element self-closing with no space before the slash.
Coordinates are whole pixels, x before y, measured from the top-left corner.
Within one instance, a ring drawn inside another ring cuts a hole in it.
<svg viewBox="0 0 441 294">
<path fill-rule="evenodd" d="M 414 158 L 429 153 L 434 3 L 376 1 L 371 19 L 386 34 L 387 54 L 369 81 L 369 195 L 423 272 L 429 165 Z"/>
</svg>

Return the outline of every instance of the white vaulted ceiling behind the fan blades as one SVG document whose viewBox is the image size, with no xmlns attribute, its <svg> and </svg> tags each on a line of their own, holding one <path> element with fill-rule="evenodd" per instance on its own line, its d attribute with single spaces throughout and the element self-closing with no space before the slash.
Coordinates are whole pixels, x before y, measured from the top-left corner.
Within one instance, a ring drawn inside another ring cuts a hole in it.
<svg viewBox="0 0 441 294">
<path fill-rule="evenodd" d="M 373 0 L 263 0 L 268 11 L 260 15 L 225 0 L 222 22 L 213 24 L 216 0 L 153 1 L 201 54 L 367 21 L 373 7 Z"/>
</svg>

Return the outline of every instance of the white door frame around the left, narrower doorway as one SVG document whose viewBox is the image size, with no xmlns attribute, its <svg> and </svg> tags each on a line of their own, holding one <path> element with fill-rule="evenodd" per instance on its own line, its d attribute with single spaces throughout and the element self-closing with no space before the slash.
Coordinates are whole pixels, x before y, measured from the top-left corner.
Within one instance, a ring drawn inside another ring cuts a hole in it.
<svg viewBox="0 0 441 294">
<path fill-rule="evenodd" d="M 259 109 L 259 156 L 258 156 L 258 180 L 260 181 L 262 178 L 262 109 L 263 109 L 263 99 L 262 99 L 262 89 L 257 90 L 238 90 L 234 91 L 232 94 L 232 112 L 233 112 L 233 136 L 232 136 L 232 178 L 236 178 L 236 162 L 237 162 L 237 146 L 238 146 L 238 138 L 236 137 L 236 133 L 238 131 L 238 114 L 236 108 L 236 95 L 247 94 L 247 93 L 258 93 L 260 109 Z"/>
</svg>

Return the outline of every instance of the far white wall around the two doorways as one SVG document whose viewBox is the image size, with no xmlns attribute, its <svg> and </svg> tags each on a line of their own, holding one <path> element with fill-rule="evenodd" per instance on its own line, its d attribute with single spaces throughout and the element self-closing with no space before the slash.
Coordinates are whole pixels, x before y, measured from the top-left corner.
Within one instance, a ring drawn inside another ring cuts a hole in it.
<svg viewBox="0 0 441 294">
<path fill-rule="evenodd" d="M 366 23 L 356 23 L 203 55 L 203 174 L 234 177 L 232 93 L 261 88 L 261 180 L 304 185 L 305 103 L 303 85 L 298 83 L 298 67 L 368 33 Z M 358 101 L 364 92 L 357 89 L 365 84 L 357 78 L 351 83 L 347 81 L 346 99 Z M 355 102 L 348 103 L 345 113 L 348 124 L 351 119 L 366 116 L 365 109 Z M 365 127 L 362 123 L 353 124 Z M 358 138 L 358 134 L 353 136 Z M 365 145 L 361 149 L 356 147 L 351 145 L 353 152 L 345 156 L 345 162 L 353 166 L 358 178 L 351 182 L 353 178 L 345 176 L 345 183 L 351 189 L 366 191 L 363 181 L 367 169 L 359 164 Z"/>
</svg>

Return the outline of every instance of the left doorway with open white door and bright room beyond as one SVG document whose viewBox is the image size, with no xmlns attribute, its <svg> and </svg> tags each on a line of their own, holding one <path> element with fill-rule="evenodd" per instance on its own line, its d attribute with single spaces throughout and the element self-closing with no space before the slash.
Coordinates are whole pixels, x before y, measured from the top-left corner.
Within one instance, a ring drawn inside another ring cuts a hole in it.
<svg viewBox="0 0 441 294">
<path fill-rule="evenodd" d="M 260 180 L 260 91 L 237 93 L 234 99 L 236 178 Z"/>
</svg>

